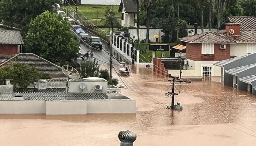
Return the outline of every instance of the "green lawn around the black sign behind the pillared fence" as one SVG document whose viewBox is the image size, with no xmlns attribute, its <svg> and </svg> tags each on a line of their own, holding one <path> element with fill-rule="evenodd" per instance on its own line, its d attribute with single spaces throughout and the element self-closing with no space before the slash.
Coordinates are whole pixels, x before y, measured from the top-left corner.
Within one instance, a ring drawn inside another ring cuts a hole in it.
<svg viewBox="0 0 256 146">
<path fill-rule="evenodd" d="M 154 43 L 150 43 L 150 44 L 154 44 Z M 175 43 L 169 43 L 170 46 L 174 46 L 176 45 Z M 145 43 L 140 43 L 140 49 L 144 50 L 145 47 Z M 135 44 L 135 48 L 139 50 L 139 46 L 138 44 Z M 142 51 L 140 51 L 140 61 L 139 62 L 149 62 L 152 61 L 152 55 L 153 55 L 153 51 L 148 50 L 149 49 L 149 45 L 147 46 L 147 50 L 146 53 L 142 53 Z M 165 57 L 169 57 L 170 56 L 170 52 L 169 51 L 164 51 L 165 53 Z M 156 51 L 155 54 L 156 57 L 161 57 L 161 51 Z"/>
</svg>

